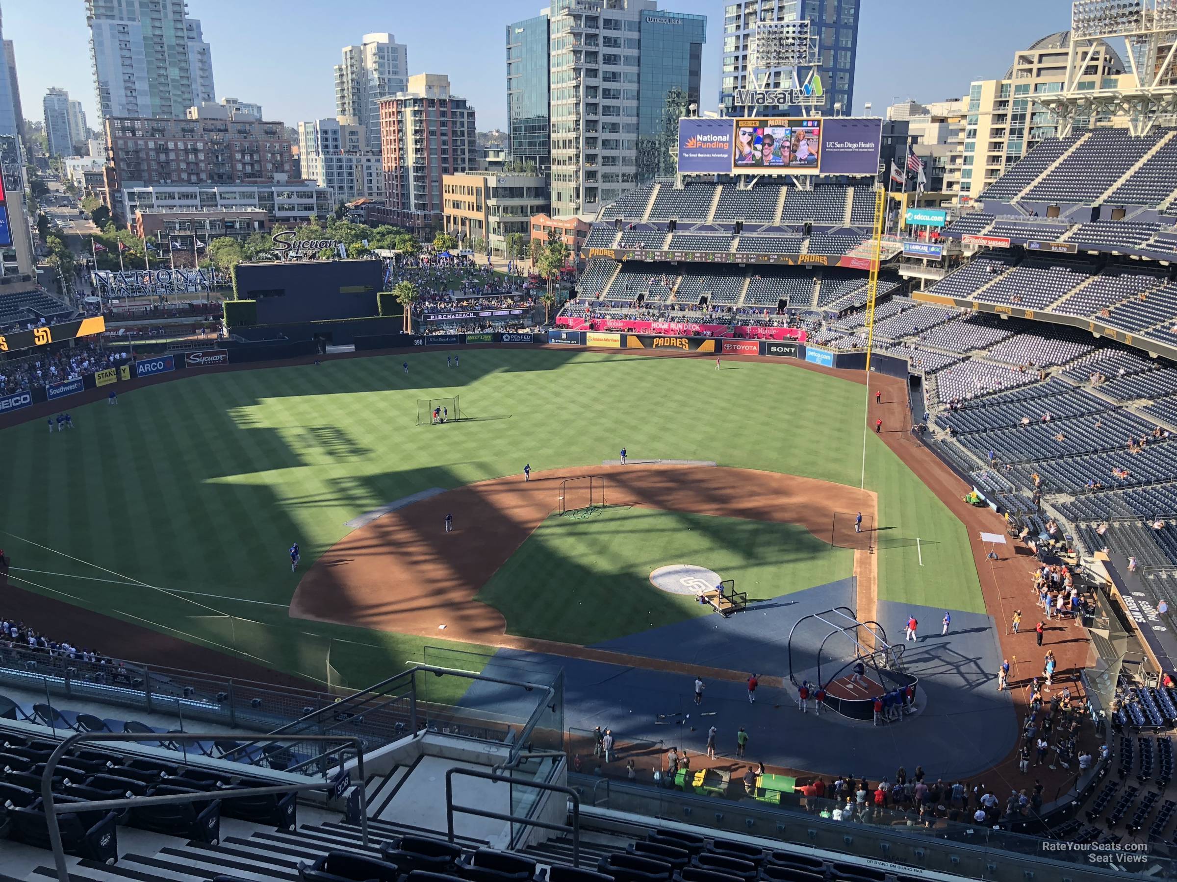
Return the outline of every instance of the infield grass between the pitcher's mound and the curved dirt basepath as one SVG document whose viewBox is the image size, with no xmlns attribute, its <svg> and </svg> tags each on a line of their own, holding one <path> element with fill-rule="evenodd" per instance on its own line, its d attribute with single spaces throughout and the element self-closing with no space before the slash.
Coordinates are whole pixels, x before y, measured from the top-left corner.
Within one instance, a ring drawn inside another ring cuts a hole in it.
<svg viewBox="0 0 1177 882">
<path fill-rule="evenodd" d="M 855 566 L 852 550 L 791 523 L 605 508 L 586 520 L 551 515 L 478 599 L 510 634 L 591 646 L 712 612 L 650 583 L 670 563 L 734 579 L 750 601 L 845 579 Z"/>
</svg>

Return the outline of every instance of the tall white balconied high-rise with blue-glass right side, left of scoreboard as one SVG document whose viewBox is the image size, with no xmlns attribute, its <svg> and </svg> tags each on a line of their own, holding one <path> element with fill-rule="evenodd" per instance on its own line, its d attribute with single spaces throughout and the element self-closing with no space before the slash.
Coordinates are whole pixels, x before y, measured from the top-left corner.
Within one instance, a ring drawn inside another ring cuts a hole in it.
<svg viewBox="0 0 1177 882">
<path fill-rule="evenodd" d="M 666 96 L 698 103 L 706 18 L 656 0 L 553 0 L 547 13 L 552 214 L 593 213 L 669 166 Z M 541 47 L 508 42 L 508 91 L 511 66 L 538 71 L 528 53 Z"/>
</svg>

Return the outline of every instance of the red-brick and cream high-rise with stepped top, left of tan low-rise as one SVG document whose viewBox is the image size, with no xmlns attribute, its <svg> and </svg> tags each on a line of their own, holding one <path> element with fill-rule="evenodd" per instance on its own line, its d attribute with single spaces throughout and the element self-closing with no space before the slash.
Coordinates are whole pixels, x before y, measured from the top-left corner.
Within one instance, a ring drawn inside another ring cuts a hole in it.
<svg viewBox="0 0 1177 882">
<path fill-rule="evenodd" d="M 417 74 L 408 88 L 380 100 L 385 205 L 370 216 L 425 230 L 440 223 L 441 178 L 478 161 L 474 108 L 450 94 L 445 74 Z"/>
</svg>

